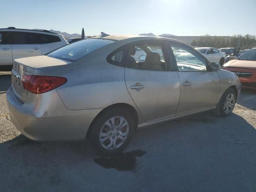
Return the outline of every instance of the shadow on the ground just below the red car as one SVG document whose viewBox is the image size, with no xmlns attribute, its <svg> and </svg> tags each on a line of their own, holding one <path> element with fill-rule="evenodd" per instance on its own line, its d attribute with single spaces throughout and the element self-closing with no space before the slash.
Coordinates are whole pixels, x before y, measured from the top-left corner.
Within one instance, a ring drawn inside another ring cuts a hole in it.
<svg viewBox="0 0 256 192">
<path fill-rule="evenodd" d="M 237 103 L 251 110 L 256 110 L 256 90 L 242 88 Z"/>
</svg>

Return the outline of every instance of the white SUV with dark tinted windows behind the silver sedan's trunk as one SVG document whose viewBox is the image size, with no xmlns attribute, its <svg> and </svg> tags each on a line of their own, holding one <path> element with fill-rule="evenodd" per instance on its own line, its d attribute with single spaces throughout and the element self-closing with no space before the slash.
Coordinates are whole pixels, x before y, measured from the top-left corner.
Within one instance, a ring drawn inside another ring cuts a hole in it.
<svg viewBox="0 0 256 192">
<path fill-rule="evenodd" d="M 62 35 L 48 30 L 0 29 L 0 67 L 11 66 L 14 59 L 43 55 L 66 44 Z"/>
</svg>

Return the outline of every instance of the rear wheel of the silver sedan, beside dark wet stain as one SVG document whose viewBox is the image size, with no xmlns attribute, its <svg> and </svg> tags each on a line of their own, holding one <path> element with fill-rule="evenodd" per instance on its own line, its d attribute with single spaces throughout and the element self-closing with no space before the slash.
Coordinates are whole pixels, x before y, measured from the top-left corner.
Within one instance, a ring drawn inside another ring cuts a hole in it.
<svg viewBox="0 0 256 192">
<path fill-rule="evenodd" d="M 104 111 L 91 127 L 90 143 L 97 154 L 110 156 L 121 152 L 134 133 L 132 115 L 122 108 Z"/>
</svg>

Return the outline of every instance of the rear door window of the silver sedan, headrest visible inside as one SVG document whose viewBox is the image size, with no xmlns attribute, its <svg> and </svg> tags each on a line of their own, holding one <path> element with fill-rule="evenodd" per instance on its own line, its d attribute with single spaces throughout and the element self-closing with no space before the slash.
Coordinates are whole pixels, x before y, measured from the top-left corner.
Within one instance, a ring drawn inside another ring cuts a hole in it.
<svg viewBox="0 0 256 192">
<path fill-rule="evenodd" d="M 167 70 L 162 46 L 160 44 L 130 45 L 126 67 L 150 71 Z"/>
</svg>

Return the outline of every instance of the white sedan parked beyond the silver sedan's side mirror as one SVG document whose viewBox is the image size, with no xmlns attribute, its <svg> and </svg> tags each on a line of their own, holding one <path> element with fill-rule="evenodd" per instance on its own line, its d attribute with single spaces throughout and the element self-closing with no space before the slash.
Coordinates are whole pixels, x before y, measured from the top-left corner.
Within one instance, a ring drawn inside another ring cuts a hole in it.
<svg viewBox="0 0 256 192">
<path fill-rule="evenodd" d="M 212 62 L 217 62 L 221 66 L 225 62 L 226 54 L 220 50 L 212 47 L 198 47 L 196 50 L 200 51 L 204 56 L 210 59 Z"/>
</svg>

